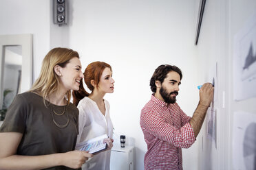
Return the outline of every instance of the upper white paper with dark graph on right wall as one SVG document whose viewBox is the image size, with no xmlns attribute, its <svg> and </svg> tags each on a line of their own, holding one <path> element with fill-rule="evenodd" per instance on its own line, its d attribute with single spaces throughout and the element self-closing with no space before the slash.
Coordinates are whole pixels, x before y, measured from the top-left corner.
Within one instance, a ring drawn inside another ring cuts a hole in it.
<svg viewBox="0 0 256 170">
<path fill-rule="evenodd" d="M 256 12 L 234 38 L 234 99 L 256 97 Z"/>
</svg>

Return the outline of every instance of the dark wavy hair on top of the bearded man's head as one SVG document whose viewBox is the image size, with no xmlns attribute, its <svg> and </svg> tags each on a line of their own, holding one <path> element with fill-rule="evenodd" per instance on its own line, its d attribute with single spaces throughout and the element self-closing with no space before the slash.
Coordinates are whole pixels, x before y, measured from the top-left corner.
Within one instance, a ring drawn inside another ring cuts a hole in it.
<svg viewBox="0 0 256 170">
<path fill-rule="evenodd" d="M 150 80 L 150 88 L 153 93 L 156 93 L 156 84 L 155 82 L 158 80 L 160 83 L 164 82 L 164 79 L 167 77 L 167 74 L 170 71 L 175 71 L 180 75 L 180 80 L 182 80 L 182 71 L 178 68 L 178 66 L 171 66 L 169 64 L 160 65 L 153 73 Z"/>
</svg>

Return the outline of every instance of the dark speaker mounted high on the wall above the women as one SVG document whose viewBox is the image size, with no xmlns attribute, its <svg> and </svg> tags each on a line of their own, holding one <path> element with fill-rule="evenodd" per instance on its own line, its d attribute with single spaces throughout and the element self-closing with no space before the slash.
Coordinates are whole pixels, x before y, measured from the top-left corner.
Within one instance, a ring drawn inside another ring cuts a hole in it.
<svg viewBox="0 0 256 170">
<path fill-rule="evenodd" d="M 67 2 L 66 0 L 54 1 L 54 23 L 58 25 L 67 24 Z"/>
</svg>

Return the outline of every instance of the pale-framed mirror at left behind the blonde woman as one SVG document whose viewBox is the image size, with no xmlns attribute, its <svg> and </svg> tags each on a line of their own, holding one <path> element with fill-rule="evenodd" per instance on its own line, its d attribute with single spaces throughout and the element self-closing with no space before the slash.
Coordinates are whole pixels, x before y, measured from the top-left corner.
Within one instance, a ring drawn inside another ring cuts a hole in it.
<svg viewBox="0 0 256 170">
<path fill-rule="evenodd" d="M 0 121 L 15 95 L 32 85 L 32 34 L 0 36 Z"/>
</svg>

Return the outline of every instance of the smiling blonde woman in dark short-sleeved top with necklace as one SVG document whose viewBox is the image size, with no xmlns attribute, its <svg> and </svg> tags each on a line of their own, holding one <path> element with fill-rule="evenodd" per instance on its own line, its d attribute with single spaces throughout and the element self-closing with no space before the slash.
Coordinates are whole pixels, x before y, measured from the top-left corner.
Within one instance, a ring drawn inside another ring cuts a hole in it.
<svg viewBox="0 0 256 170">
<path fill-rule="evenodd" d="M 83 78 L 78 53 L 55 48 L 32 88 L 17 95 L 0 127 L 0 169 L 78 169 L 92 157 L 73 151 L 78 109 L 70 90 Z"/>
</svg>

